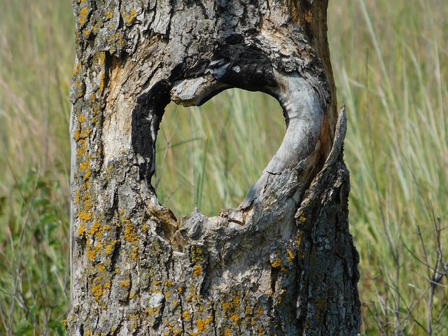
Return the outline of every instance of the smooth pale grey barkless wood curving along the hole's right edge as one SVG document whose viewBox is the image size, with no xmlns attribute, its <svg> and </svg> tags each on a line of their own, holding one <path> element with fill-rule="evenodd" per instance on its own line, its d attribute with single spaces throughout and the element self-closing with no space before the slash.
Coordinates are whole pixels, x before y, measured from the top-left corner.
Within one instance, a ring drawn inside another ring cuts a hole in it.
<svg viewBox="0 0 448 336">
<path fill-rule="evenodd" d="M 270 93 L 279 100 L 283 108 L 286 134 L 262 176 L 239 205 L 238 209 L 241 210 L 248 209 L 267 197 L 279 198 L 279 191 L 294 195 L 295 201 L 299 202 L 303 188 L 309 184 L 309 172 L 314 170 L 320 156 L 319 139 L 324 109 L 316 91 L 298 73 L 274 73 L 278 87 Z M 288 174 L 295 175 L 297 180 L 285 179 Z M 292 183 L 288 186 L 289 182 Z"/>
</svg>

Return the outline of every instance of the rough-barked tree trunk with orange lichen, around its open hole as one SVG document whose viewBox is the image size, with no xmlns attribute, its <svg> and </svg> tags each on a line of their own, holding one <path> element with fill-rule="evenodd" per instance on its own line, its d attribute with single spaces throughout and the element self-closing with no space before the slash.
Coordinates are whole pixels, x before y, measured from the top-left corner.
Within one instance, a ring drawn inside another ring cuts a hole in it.
<svg viewBox="0 0 448 336">
<path fill-rule="evenodd" d="M 70 335 L 356 335 L 346 117 L 327 0 L 75 0 Z M 177 219 L 151 186 L 165 106 L 230 87 L 286 135 L 237 209 Z"/>
</svg>

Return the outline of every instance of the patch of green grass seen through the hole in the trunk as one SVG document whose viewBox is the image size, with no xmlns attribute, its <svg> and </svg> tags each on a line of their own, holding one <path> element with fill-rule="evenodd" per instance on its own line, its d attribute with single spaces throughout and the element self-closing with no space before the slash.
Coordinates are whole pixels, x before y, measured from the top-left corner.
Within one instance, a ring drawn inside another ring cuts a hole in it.
<svg viewBox="0 0 448 336">
<path fill-rule="evenodd" d="M 152 184 L 178 216 L 198 207 L 216 216 L 237 207 L 285 134 L 279 102 L 262 92 L 225 90 L 201 107 L 165 109 Z"/>
</svg>

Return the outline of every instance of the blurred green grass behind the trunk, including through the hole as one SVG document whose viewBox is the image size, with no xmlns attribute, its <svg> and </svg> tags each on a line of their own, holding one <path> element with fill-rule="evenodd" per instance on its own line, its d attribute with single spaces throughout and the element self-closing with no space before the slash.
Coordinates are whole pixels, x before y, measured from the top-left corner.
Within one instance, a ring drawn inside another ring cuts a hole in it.
<svg viewBox="0 0 448 336">
<path fill-rule="evenodd" d="M 66 0 L 0 0 L 0 335 L 63 335 L 68 309 Z M 448 6 L 330 1 L 332 66 L 346 104 L 350 223 L 365 335 L 448 333 Z M 177 216 L 235 207 L 279 147 L 279 104 L 229 90 L 170 104 L 153 178 Z"/>
</svg>

